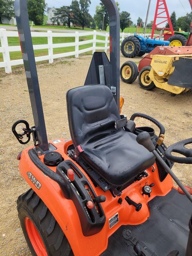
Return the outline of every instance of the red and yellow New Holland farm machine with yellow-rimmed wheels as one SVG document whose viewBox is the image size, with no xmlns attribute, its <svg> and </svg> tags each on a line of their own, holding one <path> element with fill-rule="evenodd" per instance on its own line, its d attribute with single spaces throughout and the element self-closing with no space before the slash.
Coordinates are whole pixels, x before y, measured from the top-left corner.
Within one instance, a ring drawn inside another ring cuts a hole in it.
<svg viewBox="0 0 192 256">
<path fill-rule="evenodd" d="M 139 62 L 138 67 L 133 61 L 126 61 L 121 66 L 120 76 L 128 84 L 133 83 L 138 76 L 143 89 L 153 90 L 158 87 L 176 96 L 192 92 L 191 70 L 191 46 L 157 46 Z"/>
</svg>

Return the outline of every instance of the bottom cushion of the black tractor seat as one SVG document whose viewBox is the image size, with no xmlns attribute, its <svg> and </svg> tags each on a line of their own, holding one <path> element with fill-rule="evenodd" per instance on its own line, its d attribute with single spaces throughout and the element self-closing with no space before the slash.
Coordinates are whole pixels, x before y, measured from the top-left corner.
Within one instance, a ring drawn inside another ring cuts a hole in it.
<svg viewBox="0 0 192 256">
<path fill-rule="evenodd" d="M 125 130 L 82 144 L 81 158 L 114 186 L 122 186 L 153 165 L 155 157 Z"/>
</svg>

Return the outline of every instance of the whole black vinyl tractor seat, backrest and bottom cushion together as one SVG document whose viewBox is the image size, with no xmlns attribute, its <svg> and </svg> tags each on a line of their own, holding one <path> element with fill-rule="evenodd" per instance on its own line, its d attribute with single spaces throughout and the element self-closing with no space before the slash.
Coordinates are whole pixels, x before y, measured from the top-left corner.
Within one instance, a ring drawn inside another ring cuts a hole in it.
<svg viewBox="0 0 192 256">
<path fill-rule="evenodd" d="M 136 135 L 115 129 L 120 120 L 111 90 L 86 85 L 67 92 L 69 129 L 80 157 L 109 184 L 120 187 L 155 162 L 155 157 L 136 141 Z"/>
</svg>

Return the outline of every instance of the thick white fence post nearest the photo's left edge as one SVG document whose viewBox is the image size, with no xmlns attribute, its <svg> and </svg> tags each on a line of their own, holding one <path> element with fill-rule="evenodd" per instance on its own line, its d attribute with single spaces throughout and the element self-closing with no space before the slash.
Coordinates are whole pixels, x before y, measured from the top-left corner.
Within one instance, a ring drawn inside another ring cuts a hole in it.
<svg viewBox="0 0 192 256">
<path fill-rule="evenodd" d="M 7 33 L 6 29 L 1 28 L 0 29 L 0 41 L 1 46 L 3 47 L 3 61 L 6 63 L 5 65 L 5 73 L 11 73 L 11 60 L 9 55 L 9 45 L 7 40 Z"/>
</svg>

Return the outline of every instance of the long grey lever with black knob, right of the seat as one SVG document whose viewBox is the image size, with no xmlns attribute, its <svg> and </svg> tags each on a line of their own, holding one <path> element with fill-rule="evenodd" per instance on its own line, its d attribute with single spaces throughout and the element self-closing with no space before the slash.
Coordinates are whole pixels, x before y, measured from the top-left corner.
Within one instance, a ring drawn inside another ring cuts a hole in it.
<svg viewBox="0 0 192 256">
<path fill-rule="evenodd" d="M 167 164 L 163 161 L 163 159 L 160 157 L 160 155 L 156 152 L 155 146 L 151 140 L 151 137 L 148 132 L 142 132 L 137 136 L 137 142 L 144 146 L 149 152 L 152 152 L 154 156 L 158 159 L 158 161 L 161 163 L 161 165 L 164 167 L 167 173 L 171 175 L 171 177 L 174 179 L 174 181 L 177 183 L 177 185 L 181 188 L 181 190 L 185 193 L 185 195 L 188 197 L 188 199 L 192 203 L 192 197 L 187 191 L 187 189 L 184 187 L 184 185 L 180 182 L 180 180 L 177 178 L 177 176 L 171 171 L 171 169 L 167 166 Z"/>
</svg>

